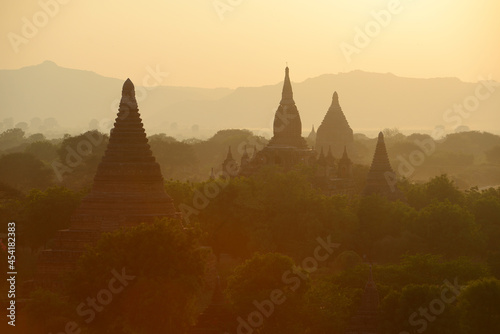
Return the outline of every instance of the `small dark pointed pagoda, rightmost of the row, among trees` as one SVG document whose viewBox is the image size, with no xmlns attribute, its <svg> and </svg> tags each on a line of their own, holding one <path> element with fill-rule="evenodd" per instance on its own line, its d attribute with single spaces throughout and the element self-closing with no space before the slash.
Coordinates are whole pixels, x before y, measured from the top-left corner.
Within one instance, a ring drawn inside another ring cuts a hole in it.
<svg viewBox="0 0 500 334">
<path fill-rule="evenodd" d="M 396 174 L 394 173 L 387 149 L 385 147 L 384 134 L 378 134 L 377 146 L 373 161 L 366 178 L 364 195 L 379 194 L 391 200 L 403 199 L 403 194 L 396 185 Z"/>
</svg>

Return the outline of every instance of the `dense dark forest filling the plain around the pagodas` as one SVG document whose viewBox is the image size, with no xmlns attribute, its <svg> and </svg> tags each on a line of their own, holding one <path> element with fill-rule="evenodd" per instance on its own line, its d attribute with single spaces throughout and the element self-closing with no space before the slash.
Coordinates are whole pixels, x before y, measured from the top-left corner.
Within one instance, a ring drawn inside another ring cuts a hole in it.
<svg viewBox="0 0 500 334">
<path fill-rule="evenodd" d="M 185 333 L 210 302 L 216 267 L 244 333 L 344 333 L 370 276 L 380 296 L 381 333 L 500 332 L 500 137 L 384 132 L 404 201 L 325 194 L 314 186 L 314 166 L 209 178 L 229 146 L 239 158 L 266 145 L 247 130 L 219 131 L 205 141 L 152 135 L 165 189 L 183 219 L 106 234 L 64 278 L 64 290 L 54 292 L 33 288 L 38 254 L 68 228 L 108 136 L 89 131 L 47 140 L 6 130 L 0 217 L 18 225 L 24 330 Z M 355 136 L 359 185 L 375 142 Z M 417 151 L 424 159 L 415 163 Z M 82 301 L 121 268 L 130 282 L 104 311 L 88 308 L 82 317 Z M 277 290 L 282 294 L 271 298 Z M 269 298 L 280 302 L 254 327 L 248 316 Z"/>
</svg>

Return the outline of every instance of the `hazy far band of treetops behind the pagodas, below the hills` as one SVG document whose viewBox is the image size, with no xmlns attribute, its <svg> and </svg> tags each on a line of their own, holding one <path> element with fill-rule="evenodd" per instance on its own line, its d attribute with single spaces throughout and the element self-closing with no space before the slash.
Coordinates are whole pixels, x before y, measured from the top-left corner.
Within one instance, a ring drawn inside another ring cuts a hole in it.
<svg viewBox="0 0 500 334">
<path fill-rule="evenodd" d="M 446 173 L 461 189 L 500 184 L 500 136 L 472 131 L 434 140 L 423 134 L 405 136 L 397 129 L 384 134 L 391 164 L 402 177 L 426 181 Z M 88 188 L 107 141 L 108 135 L 95 130 L 51 140 L 41 133 L 28 136 L 20 128 L 6 130 L 0 134 L 0 182 L 21 191 L 51 185 Z M 355 135 L 355 152 L 350 152 L 354 163 L 369 166 L 375 143 L 375 138 Z M 245 147 L 252 155 L 267 140 L 248 130 L 222 130 L 207 140 L 178 141 L 156 134 L 149 144 L 166 179 L 200 182 L 212 168 L 220 171 L 229 146 L 239 161 Z M 314 141 L 308 144 L 314 146 Z"/>
</svg>

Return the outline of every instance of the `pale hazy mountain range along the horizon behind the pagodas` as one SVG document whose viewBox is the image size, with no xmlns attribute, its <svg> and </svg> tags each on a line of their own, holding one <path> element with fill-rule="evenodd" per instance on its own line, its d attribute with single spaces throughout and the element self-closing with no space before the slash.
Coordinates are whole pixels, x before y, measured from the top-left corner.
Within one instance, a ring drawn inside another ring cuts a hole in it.
<svg viewBox="0 0 500 334">
<path fill-rule="evenodd" d="M 293 81 L 293 68 L 290 75 Z M 94 119 L 94 124 L 105 130 L 103 124 L 116 116 L 122 83 L 121 79 L 62 68 L 50 61 L 0 70 L 0 122 L 9 117 L 14 123 L 54 117 L 61 131 L 76 133 L 87 130 Z M 149 134 L 207 137 L 219 129 L 246 128 L 269 135 L 281 85 L 237 89 L 160 86 L 138 96 L 138 102 Z M 395 127 L 404 133 L 430 132 L 444 126 L 450 133 L 463 125 L 500 133 L 500 86 L 469 117 L 451 112 L 448 120 L 444 118 L 448 108 L 474 96 L 477 86 L 456 78 L 412 79 L 362 71 L 293 83 L 305 136 L 313 124 L 317 127 L 321 123 L 334 91 L 339 93 L 354 132 L 373 135 Z"/>
</svg>

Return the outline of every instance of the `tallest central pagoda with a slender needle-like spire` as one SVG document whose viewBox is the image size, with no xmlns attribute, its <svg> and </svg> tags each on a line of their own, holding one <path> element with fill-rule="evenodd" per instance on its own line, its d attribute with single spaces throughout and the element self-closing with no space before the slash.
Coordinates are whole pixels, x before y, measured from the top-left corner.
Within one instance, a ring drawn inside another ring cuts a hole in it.
<svg viewBox="0 0 500 334">
<path fill-rule="evenodd" d="M 307 146 L 302 137 L 302 121 L 293 100 L 290 70 L 286 67 L 281 101 L 274 116 L 273 137 L 264 149 L 252 156 L 246 166 L 242 166 L 240 175 L 250 175 L 263 165 L 290 168 L 299 163 L 311 164 L 315 156 L 315 151 Z"/>
</svg>

